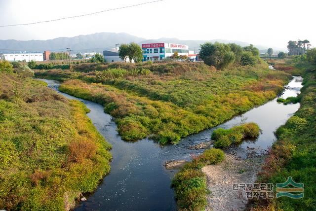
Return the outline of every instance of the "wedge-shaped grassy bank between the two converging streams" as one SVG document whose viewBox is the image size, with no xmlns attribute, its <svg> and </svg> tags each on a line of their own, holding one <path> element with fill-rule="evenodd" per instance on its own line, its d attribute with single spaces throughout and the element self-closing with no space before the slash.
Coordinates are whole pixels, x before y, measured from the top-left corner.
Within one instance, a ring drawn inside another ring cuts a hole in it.
<svg viewBox="0 0 316 211">
<path fill-rule="evenodd" d="M 290 78 L 263 64 L 215 70 L 202 63 L 179 62 L 83 64 L 36 75 L 73 79 L 65 81 L 61 91 L 104 105 L 124 140 L 151 136 L 160 143 L 177 143 L 262 105 Z"/>
</svg>

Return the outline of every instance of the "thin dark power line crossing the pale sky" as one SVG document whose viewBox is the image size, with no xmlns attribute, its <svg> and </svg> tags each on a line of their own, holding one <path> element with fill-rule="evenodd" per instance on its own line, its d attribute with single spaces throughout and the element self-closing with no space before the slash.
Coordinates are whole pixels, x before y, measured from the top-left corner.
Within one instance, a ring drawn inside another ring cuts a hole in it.
<svg viewBox="0 0 316 211">
<path fill-rule="evenodd" d="M 159 1 L 163 1 L 163 0 L 147 1 L 147 2 L 138 3 L 138 4 L 133 4 L 133 5 L 122 6 L 122 7 L 117 7 L 117 8 L 112 8 L 112 9 L 106 9 L 106 10 L 102 10 L 102 11 L 98 11 L 98 12 L 91 12 L 91 13 L 87 13 L 87 14 L 75 15 L 75 16 L 64 17 L 64 18 L 58 18 L 58 19 L 47 20 L 47 21 L 39 21 L 39 22 L 26 23 L 26 24 L 2 25 L 2 26 L 0 26 L 0 27 L 25 26 L 25 25 L 33 25 L 33 24 L 47 23 L 47 22 L 53 22 L 53 21 L 60 21 L 60 20 L 65 20 L 65 19 L 78 18 L 78 17 L 82 17 L 82 16 L 95 15 L 95 14 L 102 13 L 102 12 L 109 12 L 109 11 L 113 11 L 113 10 L 119 10 L 119 9 L 129 8 L 129 7 L 136 7 L 136 6 L 140 6 L 140 5 L 144 5 L 144 4 L 149 4 L 149 3 L 155 3 L 155 2 L 159 2 Z"/>
</svg>

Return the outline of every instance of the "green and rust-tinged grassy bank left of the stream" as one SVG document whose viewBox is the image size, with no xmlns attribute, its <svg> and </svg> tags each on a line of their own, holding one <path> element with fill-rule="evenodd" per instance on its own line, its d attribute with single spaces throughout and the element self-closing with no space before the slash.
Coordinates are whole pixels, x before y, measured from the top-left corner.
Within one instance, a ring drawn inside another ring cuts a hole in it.
<svg viewBox="0 0 316 211">
<path fill-rule="evenodd" d="M 31 78 L 0 84 L 0 209 L 70 210 L 109 173 L 110 144 L 81 102 Z"/>
</svg>

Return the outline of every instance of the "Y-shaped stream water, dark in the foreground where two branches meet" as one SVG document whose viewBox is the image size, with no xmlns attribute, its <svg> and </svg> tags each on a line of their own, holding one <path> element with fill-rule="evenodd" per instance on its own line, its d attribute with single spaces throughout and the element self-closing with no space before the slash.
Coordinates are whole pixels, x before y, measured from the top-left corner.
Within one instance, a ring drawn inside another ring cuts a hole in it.
<svg viewBox="0 0 316 211">
<path fill-rule="evenodd" d="M 58 90 L 58 83 L 45 80 L 48 86 Z M 299 93 L 302 78 L 294 77 L 281 97 L 296 96 Z M 113 161 L 111 173 L 104 178 L 97 190 L 88 200 L 80 204 L 77 211 L 171 211 L 176 210 L 174 192 L 170 188 L 173 171 L 165 170 L 167 160 L 191 160 L 190 154 L 199 154 L 202 150 L 189 150 L 188 147 L 203 141 L 209 141 L 214 129 L 231 128 L 243 122 L 256 122 L 262 134 L 256 141 L 244 141 L 235 148 L 240 156 L 247 156 L 249 148 L 256 153 L 264 153 L 275 141 L 274 131 L 293 115 L 299 104 L 284 106 L 276 99 L 263 106 L 256 107 L 242 115 L 219 125 L 190 135 L 177 145 L 160 146 L 151 140 L 136 142 L 122 141 L 117 126 L 103 106 L 81 100 L 62 93 L 70 99 L 82 101 L 91 112 L 87 115 L 98 131 L 112 144 Z M 83 175 L 84 176 L 84 175 Z"/>
</svg>

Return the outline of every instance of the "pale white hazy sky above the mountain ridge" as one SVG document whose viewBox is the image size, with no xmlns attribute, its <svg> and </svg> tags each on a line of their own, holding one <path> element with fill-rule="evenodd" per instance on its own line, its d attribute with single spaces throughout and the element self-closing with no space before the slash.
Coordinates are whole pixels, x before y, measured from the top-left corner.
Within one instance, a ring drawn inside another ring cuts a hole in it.
<svg viewBox="0 0 316 211">
<path fill-rule="evenodd" d="M 150 0 L 0 0 L 0 25 L 80 15 Z M 139 7 L 29 26 L 0 28 L 0 39 L 51 39 L 97 32 L 144 38 L 230 39 L 285 48 L 316 46 L 316 0 L 164 0 Z"/>
</svg>

